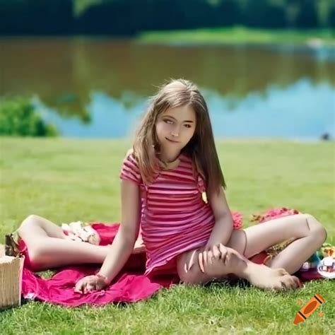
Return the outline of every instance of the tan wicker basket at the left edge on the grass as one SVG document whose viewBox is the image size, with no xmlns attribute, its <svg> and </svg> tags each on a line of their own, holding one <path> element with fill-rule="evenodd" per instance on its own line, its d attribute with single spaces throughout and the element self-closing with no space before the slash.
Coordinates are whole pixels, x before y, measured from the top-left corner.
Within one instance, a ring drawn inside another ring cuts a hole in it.
<svg viewBox="0 0 335 335">
<path fill-rule="evenodd" d="M 0 257 L 0 310 L 20 306 L 24 257 Z"/>
</svg>

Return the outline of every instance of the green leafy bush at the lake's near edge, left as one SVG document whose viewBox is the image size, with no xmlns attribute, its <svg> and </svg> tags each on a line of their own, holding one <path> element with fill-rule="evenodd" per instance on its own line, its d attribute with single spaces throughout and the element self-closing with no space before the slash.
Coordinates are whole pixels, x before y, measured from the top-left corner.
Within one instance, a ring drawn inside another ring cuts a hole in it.
<svg viewBox="0 0 335 335">
<path fill-rule="evenodd" d="M 53 124 L 46 124 L 30 98 L 0 98 L 0 135 L 57 136 Z"/>
</svg>

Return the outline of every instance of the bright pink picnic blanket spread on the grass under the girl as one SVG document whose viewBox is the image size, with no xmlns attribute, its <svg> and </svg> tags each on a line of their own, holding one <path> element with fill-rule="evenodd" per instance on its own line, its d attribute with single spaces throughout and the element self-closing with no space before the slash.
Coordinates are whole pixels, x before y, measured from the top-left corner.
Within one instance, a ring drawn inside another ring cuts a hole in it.
<svg viewBox="0 0 335 335">
<path fill-rule="evenodd" d="M 291 211 L 288 208 L 276 208 L 266 212 L 267 215 L 259 216 L 259 222 L 264 218 L 276 218 L 278 216 L 294 215 L 298 211 Z M 269 214 L 270 213 L 270 214 Z M 234 213 L 235 225 L 242 225 L 242 216 Z M 237 222 L 238 221 L 238 222 Z M 101 237 L 101 245 L 110 244 L 113 240 L 118 224 L 93 223 L 92 227 L 98 231 Z M 28 254 L 27 254 L 28 256 Z M 260 253 L 252 257 L 255 263 L 261 263 L 266 253 Z M 105 290 L 95 291 L 83 295 L 74 292 L 75 283 L 89 274 L 95 274 L 100 266 L 67 266 L 59 269 L 52 278 L 45 279 L 34 274 L 28 268 L 29 262 L 25 263 L 23 269 L 22 293 L 24 298 L 51 302 L 68 307 L 76 307 L 83 304 L 105 305 L 111 302 L 136 302 L 150 298 L 161 288 L 169 288 L 173 283 L 178 283 L 176 274 L 162 274 L 160 276 L 143 276 L 146 264 L 146 255 L 132 254 L 127 264 L 111 285 Z M 298 272 L 295 274 L 301 281 L 322 278 L 317 272 Z"/>
</svg>

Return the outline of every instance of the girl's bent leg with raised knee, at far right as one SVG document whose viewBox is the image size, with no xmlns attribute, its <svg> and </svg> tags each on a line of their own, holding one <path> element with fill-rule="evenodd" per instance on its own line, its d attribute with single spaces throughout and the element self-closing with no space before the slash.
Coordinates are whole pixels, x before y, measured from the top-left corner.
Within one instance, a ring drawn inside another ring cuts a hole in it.
<svg viewBox="0 0 335 335">
<path fill-rule="evenodd" d="M 327 232 L 310 214 L 296 214 L 259 223 L 244 230 L 233 230 L 228 247 L 250 258 L 279 242 L 295 241 L 266 263 L 294 274 L 327 238 Z"/>
</svg>

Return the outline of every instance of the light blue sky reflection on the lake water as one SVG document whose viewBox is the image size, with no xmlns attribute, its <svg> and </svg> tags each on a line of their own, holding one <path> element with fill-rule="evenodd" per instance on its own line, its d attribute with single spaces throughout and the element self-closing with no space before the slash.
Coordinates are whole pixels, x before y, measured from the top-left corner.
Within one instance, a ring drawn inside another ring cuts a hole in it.
<svg viewBox="0 0 335 335">
<path fill-rule="evenodd" d="M 270 86 L 264 93 L 249 93 L 244 98 L 225 98 L 218 91 L 202 88 L 208 102 L 213 131 L 218 137 L 276 137 L 318 139 L 334 131 L 334 89 L 327 83 L 312 84 L 309 79 L 281 88 Z M 131 93 L 127 93 L 132 96 Z M 56 111 L 36 100 L 47 121 L 53 122 L 63 136 L 123 137 L 132 136 L 146 110 L 145 97 L 124 100 L 95 91 L 87 107 L 90 123 L 72 117 L 64 119 Z M 134 104 L 136 101 L 136 104 Z"/>
</svg>

